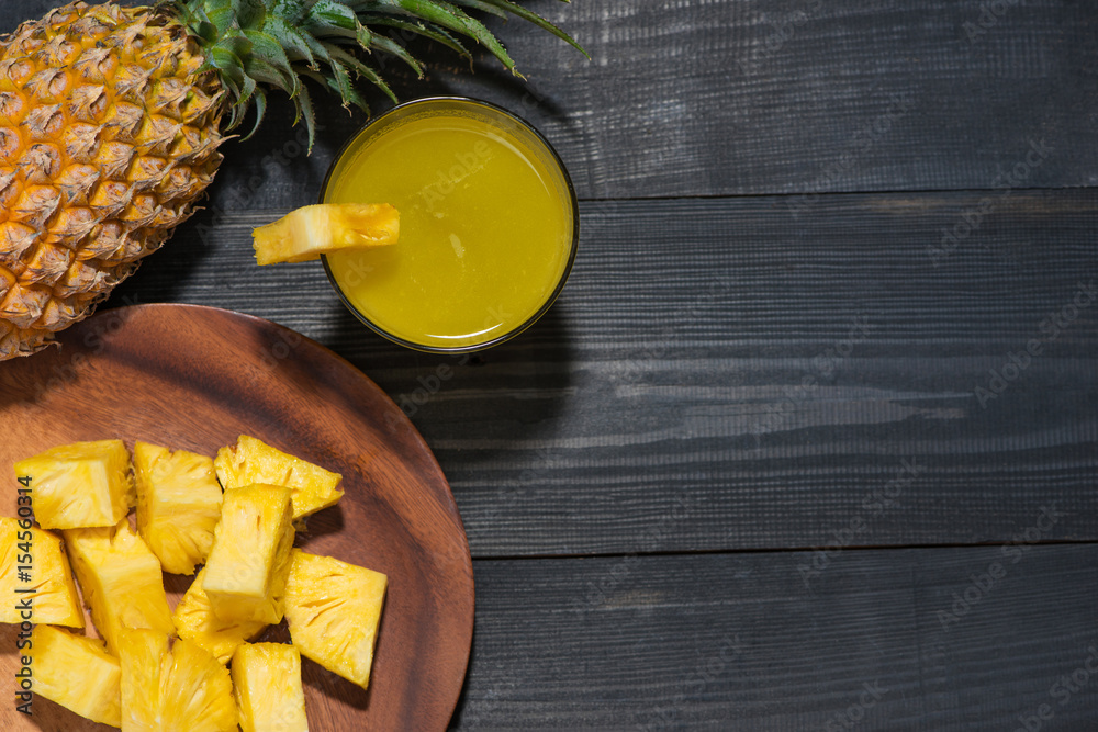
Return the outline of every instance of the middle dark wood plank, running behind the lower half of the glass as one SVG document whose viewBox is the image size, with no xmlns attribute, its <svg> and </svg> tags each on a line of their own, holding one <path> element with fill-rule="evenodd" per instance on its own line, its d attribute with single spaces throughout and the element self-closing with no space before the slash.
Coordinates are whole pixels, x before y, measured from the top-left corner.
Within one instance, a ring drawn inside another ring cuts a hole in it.
<svg viewBox="0 0 1098 732">
<path fill-rule="evenodd" d="M 350 359 L 427 438 L 478 556 L 1002 541 L 1050 504 L 1052 537 L 1095 539 L 1098 195 L 996 199 L 935 252 L 983 196 L 585 204 L 553 309 L 472 359 L 368 333 L 316 263 L 257 268 L 249 229 L 280 212 L 206 243 L 200 215 L 112 302 L 249 312 Z"/>
</svg>

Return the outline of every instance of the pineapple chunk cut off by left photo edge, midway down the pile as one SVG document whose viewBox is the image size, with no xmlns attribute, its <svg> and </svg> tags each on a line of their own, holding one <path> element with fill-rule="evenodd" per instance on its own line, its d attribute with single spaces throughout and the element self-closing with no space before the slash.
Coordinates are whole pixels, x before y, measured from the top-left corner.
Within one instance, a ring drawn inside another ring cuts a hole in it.
<svg viewBox="0 0 1098 732">
<path fill-rule="evenodd" d="M 20 579 L 20 566 L 29 567 L 29 582 Z M 83 609 L 60 537 L 43 529 L 20 529 L 14 518 L 0 518 L 0 622 L 30 620 L 83 628 Z"/>
</svg>

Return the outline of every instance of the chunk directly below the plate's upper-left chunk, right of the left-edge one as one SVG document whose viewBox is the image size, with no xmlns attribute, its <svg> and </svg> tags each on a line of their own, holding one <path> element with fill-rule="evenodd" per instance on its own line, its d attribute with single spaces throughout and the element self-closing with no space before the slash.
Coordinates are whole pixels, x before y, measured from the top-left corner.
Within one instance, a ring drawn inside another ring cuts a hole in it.
<svg viewBox="0 0 1098 732">
<path fill-rule="evenodd" d="M 119 651 L 122 628 L 175 632 L 160 561 L 127 519 L 105 529 L 69 529 L 65 543 L 83 601 L 111 653 Z"/>
</svg>

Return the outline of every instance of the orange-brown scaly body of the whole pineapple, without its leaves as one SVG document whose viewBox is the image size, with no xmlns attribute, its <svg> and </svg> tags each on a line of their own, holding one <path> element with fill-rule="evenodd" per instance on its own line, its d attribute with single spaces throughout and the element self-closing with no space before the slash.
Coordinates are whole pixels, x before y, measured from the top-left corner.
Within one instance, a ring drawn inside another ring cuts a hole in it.
<svg viewBox="0 0 1098 732">
<path fill-rule="evenodd" d="M 0 360 L 94 305 L 193 213 L 224 91 L 178 22 L 72 3 L 0 42 Z"/>
</svg>

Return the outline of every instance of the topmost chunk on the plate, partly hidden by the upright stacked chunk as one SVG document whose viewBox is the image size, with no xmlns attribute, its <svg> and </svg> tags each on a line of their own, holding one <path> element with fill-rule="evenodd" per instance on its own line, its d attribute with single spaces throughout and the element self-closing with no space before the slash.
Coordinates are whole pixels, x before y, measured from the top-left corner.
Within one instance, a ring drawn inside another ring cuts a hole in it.
<svg viewBox="0 0 1098 732">
<path fill-rule="evenodd" d="M 343 497 L 343 476 L 301 458 L 277 450 L 262 440 L 240 435 L 236 446 L 222 448 L 214 460 L 217 480 L 227 489 L 254 483 L 284 485 L 293 491 L 293 518 L 315 514 Z"/>
</svg>

